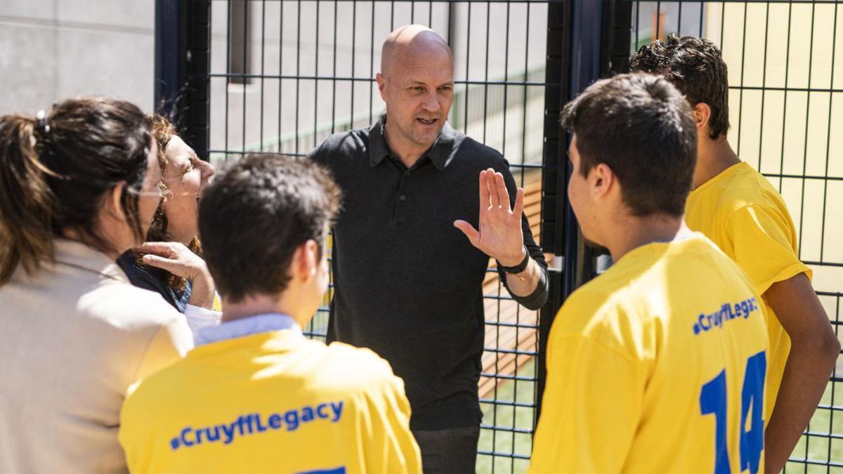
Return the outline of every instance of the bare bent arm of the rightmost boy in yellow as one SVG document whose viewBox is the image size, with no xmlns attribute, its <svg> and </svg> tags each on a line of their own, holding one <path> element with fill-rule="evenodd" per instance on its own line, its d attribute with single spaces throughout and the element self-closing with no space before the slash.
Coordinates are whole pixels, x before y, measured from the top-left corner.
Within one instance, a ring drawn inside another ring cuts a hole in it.
<svg viewBox="0 0 843 474">
<path fill-rule="evenodd" d="M 823 396 L 840 342 L 804 273 L 773 283 L 764 296 L 791 339 L 765 432 L 765 471 L 780 472 Z"/>
</svg>

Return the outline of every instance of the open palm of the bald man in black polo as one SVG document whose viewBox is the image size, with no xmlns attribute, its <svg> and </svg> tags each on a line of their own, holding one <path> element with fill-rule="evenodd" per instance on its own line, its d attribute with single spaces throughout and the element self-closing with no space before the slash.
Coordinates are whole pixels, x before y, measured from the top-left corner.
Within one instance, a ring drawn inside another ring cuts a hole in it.
<svg viewBox="0 0 843 474">
<path fill-rule="evenodd" d="M 480 229 L 464 220 L 454 221 L 471 245 L 500 261 L 515 267 L 524 259 L 524 234 L 521 215 L 524 213 L 524 190 L 515 194 L 515 208 L 510 209 L 509 193 L 503 175 L 491 168 L 480 172 Z"/>
</svg>

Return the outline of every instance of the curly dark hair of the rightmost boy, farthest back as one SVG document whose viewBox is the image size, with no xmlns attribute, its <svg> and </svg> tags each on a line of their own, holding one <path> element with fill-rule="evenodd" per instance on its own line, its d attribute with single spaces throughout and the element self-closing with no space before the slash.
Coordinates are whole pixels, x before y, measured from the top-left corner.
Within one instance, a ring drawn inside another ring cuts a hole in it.
<svg viewBox="0 0 843 474">
<path fill-rule="evenodd" d="M 729 78 L 720 49 L 709 40 L 695 36 L 654 41 L 642 46 L 630 58 L 634 73 L 664 76 L 688 99 L 691 105 L 700 102 L 711 108 L 709 136 L 717 139 L 729 131 Z"/>
</svg>

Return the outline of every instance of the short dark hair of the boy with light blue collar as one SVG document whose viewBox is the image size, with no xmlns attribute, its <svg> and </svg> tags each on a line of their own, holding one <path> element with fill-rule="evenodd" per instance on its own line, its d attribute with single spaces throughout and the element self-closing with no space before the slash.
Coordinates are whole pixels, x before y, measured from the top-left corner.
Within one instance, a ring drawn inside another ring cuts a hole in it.
<svg viewBox="0 0 843 474">
<path fill-rule="evenodd" d="M 341 193 L 330 172 L 306 158 L 249 155 L 217 175 L 199 204 L 208 270 L 226 299 L 279 294 L 299 245 L 325 251 Z"/>
</svg>

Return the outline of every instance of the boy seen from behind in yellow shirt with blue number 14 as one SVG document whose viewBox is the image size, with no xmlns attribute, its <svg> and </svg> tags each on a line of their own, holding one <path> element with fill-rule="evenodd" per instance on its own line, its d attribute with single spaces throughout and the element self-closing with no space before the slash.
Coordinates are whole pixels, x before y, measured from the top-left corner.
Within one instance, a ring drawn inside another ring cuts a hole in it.
<svg viewBox="0 0 843 474">
<path fill-rule="evenodd" d="M 690 105 L 663 78 L 594 83 L 567 105 L 568 197 L 615 265 L 550 329 L 530 472 L 760 472 L 766 331 L 740 268 L 682 218 Z"/>
</svg>

